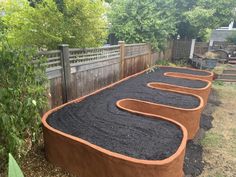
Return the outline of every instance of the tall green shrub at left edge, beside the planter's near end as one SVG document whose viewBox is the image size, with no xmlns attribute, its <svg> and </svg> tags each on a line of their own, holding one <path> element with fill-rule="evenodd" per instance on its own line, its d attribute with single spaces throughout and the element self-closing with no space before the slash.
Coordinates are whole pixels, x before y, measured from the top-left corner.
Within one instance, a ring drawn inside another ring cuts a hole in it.
<svg viewBox="0 0 236 177">
<path fill-rule="evenodd" d="M 34 56 L 32 49 L 0 44 L 0 168 L 8 152 L 26 154 L 41 131 L 47 78 L 43 66 L 32 63 Z"/>
</svg>

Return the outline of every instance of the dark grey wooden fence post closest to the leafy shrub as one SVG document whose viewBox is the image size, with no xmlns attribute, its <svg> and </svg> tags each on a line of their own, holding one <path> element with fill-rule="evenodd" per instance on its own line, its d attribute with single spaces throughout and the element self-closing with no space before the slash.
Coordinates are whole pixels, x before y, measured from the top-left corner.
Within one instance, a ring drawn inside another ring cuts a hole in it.
<svg viewBox="0 0 236 177">
<path fill-rule="evenodd" d="M 70 100 L 71 91 L 71 68 L 69 60 L 69 45 L 60 44 L 58 46 L 61 50 L 61 66 L 62 66 L 62 101 L 66 103 Z"/>
</svg>

